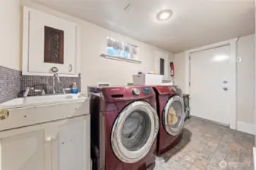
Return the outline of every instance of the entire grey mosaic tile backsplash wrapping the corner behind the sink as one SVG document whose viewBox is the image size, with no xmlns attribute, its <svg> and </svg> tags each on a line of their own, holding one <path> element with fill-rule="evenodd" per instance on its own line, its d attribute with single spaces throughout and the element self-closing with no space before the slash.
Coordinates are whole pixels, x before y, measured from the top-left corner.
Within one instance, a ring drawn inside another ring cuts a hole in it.
<svg viewBox="0 0 256 170">
<path fill-rule="evenodd" d="M 55 93 L 62 94 L 63 88 L 71 88 L 73 82 L 77 83 L 77 88 L 81 92 L 81 75 L 79 74 L 78 77 L 60 77 L 59 82 L 55 78 Z M 44 90 L 46 94 L 52 94 L 52 76 L 25 76 L 21 74 L 21 71 L 0 66 L 0 103 L 22 97 L 27 87 Z M 70 93 L 71 91 L 66 90 L 65 92 Z M 41 92 L 30 90 L 28 96 L 40 94 Z"/>
</svg>

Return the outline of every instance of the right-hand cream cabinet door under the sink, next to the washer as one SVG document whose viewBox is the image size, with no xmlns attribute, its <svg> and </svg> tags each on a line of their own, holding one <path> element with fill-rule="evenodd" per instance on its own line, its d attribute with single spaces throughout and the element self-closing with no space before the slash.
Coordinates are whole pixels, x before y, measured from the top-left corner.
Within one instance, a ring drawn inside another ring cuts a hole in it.
<svg viewBox="0 0 256 170">
<path fill-rule="evenodd" d="M 90 115 L 67 119 L 52 141 L 52 170 L 90 169 Z"/>
</svg>

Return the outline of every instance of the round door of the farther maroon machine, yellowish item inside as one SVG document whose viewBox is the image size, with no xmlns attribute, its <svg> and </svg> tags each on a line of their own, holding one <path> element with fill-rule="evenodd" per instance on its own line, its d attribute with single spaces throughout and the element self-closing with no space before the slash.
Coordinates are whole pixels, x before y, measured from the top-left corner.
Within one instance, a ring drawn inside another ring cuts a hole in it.
<svg viewBox="0 0 256 170">
<path fill-rule="evenodd" d="M 184 126 L 184 102 L 182 97 L 171 97 L 163 110 L 163 126 L 168 134 L 179 134 Z"/>
</svg>

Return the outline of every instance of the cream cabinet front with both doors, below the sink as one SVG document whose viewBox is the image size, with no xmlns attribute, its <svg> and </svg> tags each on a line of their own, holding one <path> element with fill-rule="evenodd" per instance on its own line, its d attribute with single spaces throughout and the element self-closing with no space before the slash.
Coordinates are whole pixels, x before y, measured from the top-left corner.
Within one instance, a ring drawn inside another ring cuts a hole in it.
<svg viewBox="0 0 256 170">
<path fill-rule="evenodd" d="M 0 132 L 1 170 L 90 169 L 90 115 Z"/>
</svg>

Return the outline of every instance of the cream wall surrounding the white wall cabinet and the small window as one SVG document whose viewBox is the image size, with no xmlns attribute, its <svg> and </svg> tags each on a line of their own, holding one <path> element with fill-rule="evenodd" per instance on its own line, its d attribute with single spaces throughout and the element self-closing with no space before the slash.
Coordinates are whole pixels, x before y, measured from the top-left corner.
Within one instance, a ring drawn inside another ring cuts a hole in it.
<svg viewBox="0 0 256 170">
<path fill-rule="evenodd" d="M 62 14 L 58 11 L 46 8 L 29 0 L 2 0 L 0 1 L 0 20 L 6 25 L 0 27 L 2 53 L 2 66 L 8 66 L 21 70 L 21 5 L 34 8 L 48 14 L 61 17 L 77 23 L 81 28 L 81 79 L 82 90 L 87 92 L 87 85 L 96 85 L 97 82 L 110 82 L 112 85 L 126 85 L 132 82 L 132 75 L 138 71 L 149 72 L 154 70 L 154 51 L 158 48 L 122 36 L 100 26 L 93 25 L 84 20 Z M 124 42 L 137 45 L 140 48 L 139 60 L 141 64 L 127 63 L 118 60 L 109 60 L 100 57 L 106 52 L 106 37 L 112 37 Z M 159 49 L 160 50 L 160 49 Z M 173 56 L 170 54 L 170 60 Z"/>
</svg>

